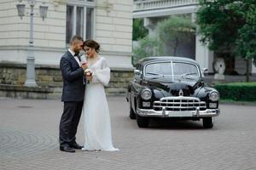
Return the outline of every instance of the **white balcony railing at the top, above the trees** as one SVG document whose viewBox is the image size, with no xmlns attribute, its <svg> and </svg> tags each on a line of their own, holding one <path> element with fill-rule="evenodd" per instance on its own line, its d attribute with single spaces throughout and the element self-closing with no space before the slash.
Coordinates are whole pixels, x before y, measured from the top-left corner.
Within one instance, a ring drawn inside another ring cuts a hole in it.
<svg viewBox="0 0 256 170">
<path fill-rule="evenodd" d="M 133 12 L 158 8 L 173 8 L 196 4 L 198 4 L 198 0 L 137 0 L 133 3 Z"/>
</svg>

